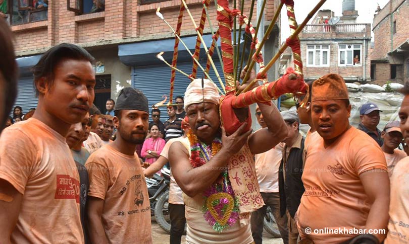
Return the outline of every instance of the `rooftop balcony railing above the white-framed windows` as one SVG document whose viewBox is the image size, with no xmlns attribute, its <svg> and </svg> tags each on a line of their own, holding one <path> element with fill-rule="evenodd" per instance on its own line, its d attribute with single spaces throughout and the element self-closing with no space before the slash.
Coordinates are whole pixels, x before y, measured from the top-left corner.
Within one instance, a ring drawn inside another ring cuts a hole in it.
<svg viewBox="0 0 409 244">
<path fill-rule="evenodd" d="M 366 32 L 370 24 L 306 25 L 302 33 L 357 33 Z"/>
</svg>

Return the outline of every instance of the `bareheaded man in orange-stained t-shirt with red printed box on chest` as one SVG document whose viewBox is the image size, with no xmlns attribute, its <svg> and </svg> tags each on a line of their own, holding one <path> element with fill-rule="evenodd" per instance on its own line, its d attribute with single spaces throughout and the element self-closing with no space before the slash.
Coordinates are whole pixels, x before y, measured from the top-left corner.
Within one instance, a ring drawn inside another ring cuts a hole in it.
<svg viewBox="0 0 409 244">
<path fill-rule="evenodd" d="M 84 243 L 79 175 L 66 143 L 94 100 L 93 57 L 50 48 L 33 68 L 38 106 L 0 137 L 0 243 Z"/>
</svg>

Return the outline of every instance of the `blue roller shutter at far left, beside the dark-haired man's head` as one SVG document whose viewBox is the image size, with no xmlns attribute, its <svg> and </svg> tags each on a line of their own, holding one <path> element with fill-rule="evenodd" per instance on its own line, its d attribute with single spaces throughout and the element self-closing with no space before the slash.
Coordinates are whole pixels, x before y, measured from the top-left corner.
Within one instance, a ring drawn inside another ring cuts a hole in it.
<svg viewBox="0 0 409 244">
<path fill-rule="evenodd" d="M 17 99 L 14 106 L 20 106 L 23 109 L 23 114 L 27 113 L 30 108 L 37 107 L 38 98 L 35 97 L 32 77 L 21 77 L 18 82 L 17 90 Z M 13 110 L 11 114 L 13 114 Z"/>
</svg>

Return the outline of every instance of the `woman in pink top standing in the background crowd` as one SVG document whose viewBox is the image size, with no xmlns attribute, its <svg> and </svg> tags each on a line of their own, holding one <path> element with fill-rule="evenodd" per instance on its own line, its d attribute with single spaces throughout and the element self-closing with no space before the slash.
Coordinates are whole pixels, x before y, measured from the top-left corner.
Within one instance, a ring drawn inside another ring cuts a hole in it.
<svg viewBox="0 0 409 244">
<path fill-rule="evenodd" d="M 145 158 L 145 162 L 149 165 L 158 159 L 163 147 L 165 146 L 165 140 L 159 137 L 159 127 L 156 124 L 149 126 L 150 138 L 143 142 L 140 155 Z"/>
</svg>

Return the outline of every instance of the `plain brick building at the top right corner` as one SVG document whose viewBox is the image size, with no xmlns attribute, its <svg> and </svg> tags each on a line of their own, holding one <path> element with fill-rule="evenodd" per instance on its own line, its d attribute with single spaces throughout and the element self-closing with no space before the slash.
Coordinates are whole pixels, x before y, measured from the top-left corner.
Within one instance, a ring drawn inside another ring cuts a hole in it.
<svg viewBox="0 0 409 244">
<path fill-rule="evenodd" d="M 391 0 L 374 16 L 371 78 L 379 85 L 409 81 L 408 14 L 408 0 Z"/>
</svg>

